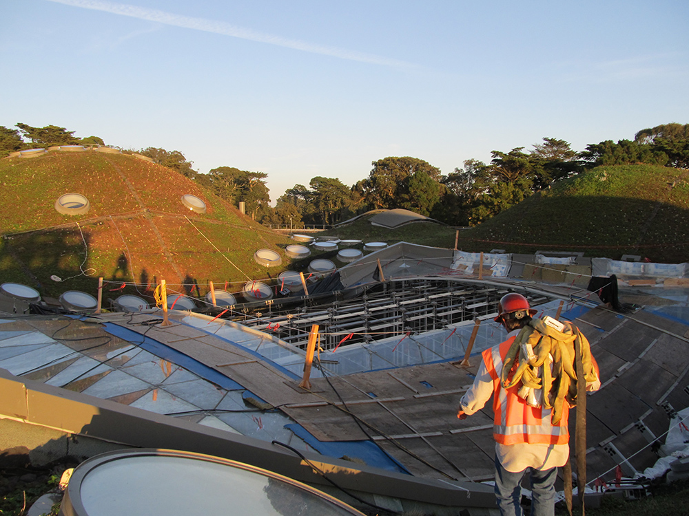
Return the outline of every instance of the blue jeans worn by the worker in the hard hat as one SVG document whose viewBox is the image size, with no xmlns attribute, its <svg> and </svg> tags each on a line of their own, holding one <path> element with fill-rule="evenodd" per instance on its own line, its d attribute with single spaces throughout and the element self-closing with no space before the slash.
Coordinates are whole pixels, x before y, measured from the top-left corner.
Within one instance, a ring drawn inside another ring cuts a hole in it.
<svg viewBox="0 0 689 516">
<path fill-rule="evenodd" d="M 522 477 L 529 472 L 531 487 L 531 516 L 555 515 L 555 480 L 557 468 L 539 471 L 526 468 L 519 473 L 507 471 L 495 458 L 495 497 L 502 516 L 522 516 Z"/>
</svg>

